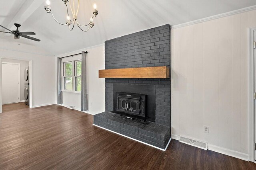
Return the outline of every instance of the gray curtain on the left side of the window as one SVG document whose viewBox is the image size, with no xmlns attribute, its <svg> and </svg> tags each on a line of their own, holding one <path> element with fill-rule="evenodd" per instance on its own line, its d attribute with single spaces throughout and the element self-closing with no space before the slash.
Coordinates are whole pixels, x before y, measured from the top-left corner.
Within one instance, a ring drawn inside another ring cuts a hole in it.
<svg viewBox="0 0 256 170">
<path fill-rule="evenodd" d="M 57 104 L 62 104 L 61 64 L 62 64 L 62 59 L 57 58 Z"/>
</svg>

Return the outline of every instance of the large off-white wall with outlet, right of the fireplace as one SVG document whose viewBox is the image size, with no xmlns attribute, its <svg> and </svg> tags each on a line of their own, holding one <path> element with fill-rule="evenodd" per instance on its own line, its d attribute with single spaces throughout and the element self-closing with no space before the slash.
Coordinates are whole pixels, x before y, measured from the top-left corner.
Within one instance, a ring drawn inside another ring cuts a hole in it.
<svg viewBox="0 0 256 170">
<path fill-rule="evenodd" d="M 172 29 L 172 137 L 192 137 L 246 157 L 248 27 L 255 26 L 253 10 Z"/>
</svg>

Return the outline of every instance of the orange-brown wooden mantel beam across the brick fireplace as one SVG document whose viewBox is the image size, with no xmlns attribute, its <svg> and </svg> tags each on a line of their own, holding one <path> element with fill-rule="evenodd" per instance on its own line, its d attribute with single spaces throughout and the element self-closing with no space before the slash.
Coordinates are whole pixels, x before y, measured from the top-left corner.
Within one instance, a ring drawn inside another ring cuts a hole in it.
<svg viewBox="0 0 256 170">
<path fill-rule="evenodd" d="M 170 78 L 168 66 L 99 70 L 99 78 Z"/>
</svg>

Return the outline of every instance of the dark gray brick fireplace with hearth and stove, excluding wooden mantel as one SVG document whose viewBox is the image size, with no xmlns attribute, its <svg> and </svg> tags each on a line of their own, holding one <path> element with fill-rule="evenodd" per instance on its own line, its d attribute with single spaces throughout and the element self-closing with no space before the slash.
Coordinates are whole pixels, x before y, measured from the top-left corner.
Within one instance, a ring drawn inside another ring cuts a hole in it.
<svg viewBox="0 0 256 170">
<path fill-rule="evenodd" d="M 154 66 L 170 67 L 169 24 L 105 41 L 105 69 Z M 165 149 L 171 127 L 170 78 L 105 82 L 106 111 L 94 115 L 94 125 Z"/>
</svg>

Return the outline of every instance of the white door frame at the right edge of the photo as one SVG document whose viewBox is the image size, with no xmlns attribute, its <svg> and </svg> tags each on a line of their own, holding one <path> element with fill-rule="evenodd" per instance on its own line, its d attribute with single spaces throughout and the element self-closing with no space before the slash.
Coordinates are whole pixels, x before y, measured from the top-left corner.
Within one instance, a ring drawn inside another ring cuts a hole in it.
<svg viewBox="0 0 256 170">
<path fill-rule="evenodd" d="M 248 28 L 248 160 L 255 162 L 255 100 L 254 100 L 254 31 L 256 27 Z"/>
</svg>

